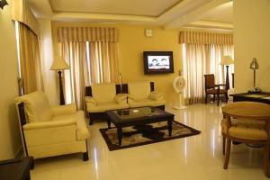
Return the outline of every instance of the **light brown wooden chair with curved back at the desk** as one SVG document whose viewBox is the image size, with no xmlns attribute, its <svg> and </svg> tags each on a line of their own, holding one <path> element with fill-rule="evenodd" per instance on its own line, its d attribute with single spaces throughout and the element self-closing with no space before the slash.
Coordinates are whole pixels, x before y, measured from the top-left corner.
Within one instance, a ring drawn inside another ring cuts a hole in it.
<svg viewBox="0 0 270 180">
<path fill-rule="evenodd" d="M 270 105 L 266 103 L 238 102 L 222 107 L 226 119 L 221 121 L 224 169 L 229 165 L 231 141 L 264 145 L 264 169 L 269 175 Z M 226 146 L 226 151 L 225 151 Z"/>
</svg>

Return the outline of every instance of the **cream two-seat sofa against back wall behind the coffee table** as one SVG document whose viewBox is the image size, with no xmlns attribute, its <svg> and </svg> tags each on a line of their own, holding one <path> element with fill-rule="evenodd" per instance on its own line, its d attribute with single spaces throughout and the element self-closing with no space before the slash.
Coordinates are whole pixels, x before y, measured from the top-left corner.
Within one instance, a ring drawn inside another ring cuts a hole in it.
<svg viewBox="0 0 270 180">
<path fill-rule="evenodd" d="M 139 82 L 123 85 L 98 84 L 85 87 L 86 111 L 90 124 L 103 118 L 106 111 L 132 107 L 155 106 L 165 109 L 162 94 L 154 91 L 154 83 Z"/>
</svg>

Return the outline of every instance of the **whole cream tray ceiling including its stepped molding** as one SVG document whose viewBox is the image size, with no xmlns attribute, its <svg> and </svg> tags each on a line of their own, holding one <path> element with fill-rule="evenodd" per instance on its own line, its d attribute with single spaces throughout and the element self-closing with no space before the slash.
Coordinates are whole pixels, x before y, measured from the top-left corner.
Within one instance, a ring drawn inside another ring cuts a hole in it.
<svg viewBox="0 0 270 180">
<path fill-rule="evenodd" d="M 27 0 L 38 18 L 233 29 L 232 0 Z"/>
</svg>

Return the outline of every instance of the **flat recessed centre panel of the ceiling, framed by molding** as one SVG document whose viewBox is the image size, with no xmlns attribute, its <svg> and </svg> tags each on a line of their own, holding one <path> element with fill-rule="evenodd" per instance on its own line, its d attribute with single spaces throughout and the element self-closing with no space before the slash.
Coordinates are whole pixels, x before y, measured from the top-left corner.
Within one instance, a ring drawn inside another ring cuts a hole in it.
<svg viewBox="0 0 270 180">
<path fill-rule="evenodd" d="M 49 0 L 56 12 L 158 16 L 182 0 Z"/>
</svg>

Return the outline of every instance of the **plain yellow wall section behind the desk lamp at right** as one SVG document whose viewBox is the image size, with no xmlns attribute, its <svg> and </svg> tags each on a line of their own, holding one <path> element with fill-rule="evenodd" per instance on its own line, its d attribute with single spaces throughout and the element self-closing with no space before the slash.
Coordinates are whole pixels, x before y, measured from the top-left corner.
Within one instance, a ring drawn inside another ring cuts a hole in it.
<svg viewBox="0 0 270 180">
<path fill-rule="evenodd" d="M 252 58 L 257 58 L 257 86 L 270 92 L 270 1 L 234 0 L 235 86 L 253 86 Z"/>
</svg>

